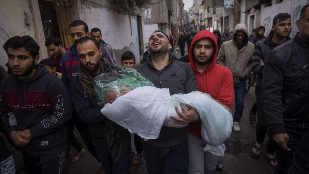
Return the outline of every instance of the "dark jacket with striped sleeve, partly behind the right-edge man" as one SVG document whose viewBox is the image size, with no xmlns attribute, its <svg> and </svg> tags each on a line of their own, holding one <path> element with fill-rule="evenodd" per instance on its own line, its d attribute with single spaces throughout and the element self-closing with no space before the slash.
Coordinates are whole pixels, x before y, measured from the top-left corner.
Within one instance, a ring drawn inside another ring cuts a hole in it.
<svg viewBox="0 0 309 174">
<path fill-rule="evenodd" d="M 261 60 L 265 63 L 266 56 L 272 49 L 276 48 L 278 45 L 272 40 L 273 35 L 269 37 L 265 37 L 256 43 L 253 56 L 252 56 L 252 71 L 257 75 L 256 87 L 255 89 L 258 91 L 262 90 L 262 77 L 264 65 L 261 65 Z M 288 36 L 286 41 L 289 41 L 291 38 Z"/>
</svg>

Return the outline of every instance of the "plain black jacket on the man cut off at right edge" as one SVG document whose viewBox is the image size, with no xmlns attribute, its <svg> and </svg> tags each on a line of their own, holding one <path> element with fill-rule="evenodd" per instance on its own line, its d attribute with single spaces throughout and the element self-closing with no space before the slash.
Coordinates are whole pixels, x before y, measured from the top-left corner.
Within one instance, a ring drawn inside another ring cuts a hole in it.
<svg viewBox="0 0 309 174">
<path fill-rule="evenodd" d="M 267 123 L 273 134 L 284 127 L 303 129 L 309 124 L 309 44 L 298 34 L 268 53 L 262 85 Z M 266 78 L 267 77 L 267 78 Z"/>
</svg>

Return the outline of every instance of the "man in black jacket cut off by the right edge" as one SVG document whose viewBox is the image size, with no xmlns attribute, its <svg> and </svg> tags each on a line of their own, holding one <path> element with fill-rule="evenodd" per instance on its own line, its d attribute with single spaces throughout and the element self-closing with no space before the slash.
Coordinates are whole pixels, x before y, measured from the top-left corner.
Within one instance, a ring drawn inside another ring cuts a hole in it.
<svg viewBox="0 0 309 174">
<path fill-rule="evenodd" d="M 299 33 L 268 53 L 262 80 L 264 111 L 278 162 L 275 173 L 280 174 L 288 173 L 298 142 L 309 128 L 309 4 L 296 25 Z"/>
</svg>

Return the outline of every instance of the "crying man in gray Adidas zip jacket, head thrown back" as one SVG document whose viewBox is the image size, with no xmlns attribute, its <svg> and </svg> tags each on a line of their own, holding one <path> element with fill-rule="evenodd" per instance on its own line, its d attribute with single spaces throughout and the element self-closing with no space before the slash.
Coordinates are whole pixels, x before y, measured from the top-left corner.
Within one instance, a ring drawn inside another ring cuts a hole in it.
<svg viewBox="0 0 309 174">
<path fill-rule="evenodd" d="M 136 67 L 147 79 L 158 88 L 168 88 L 170 94 L 187 94 L 198 91 L 197 82 L 193 70 L 187 63 L 179 62 L 169 56 L 168 50 L 171 44 L 166 34 L 156 30 L 149 38 L 150 57 L 146 57 L 146 63 Z M 198 113 L 192 106 L 181 105 L 176 112 L 181 118 L 174 123 L 188 124 L 198 120 Z M 150 174 L 182 173 L 188 172 L 188 126 L 184 128 L 171 128 L 162 126 L 159 138 L 142 140 L 144 156 L 148 172 Z"/>
</svg>

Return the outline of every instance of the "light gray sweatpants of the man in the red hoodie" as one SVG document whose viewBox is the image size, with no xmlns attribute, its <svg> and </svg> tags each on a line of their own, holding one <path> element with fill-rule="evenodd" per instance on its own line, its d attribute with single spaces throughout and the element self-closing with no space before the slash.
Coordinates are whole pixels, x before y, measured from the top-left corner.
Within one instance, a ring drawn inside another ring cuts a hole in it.
<svg viewBox="0 0 309 174">
<path fill-rule="evenodd" d="M 219 156 L 205 152 L 206 141 L 188 133 L 189 168 L 188 174 L 212 174 L 216 169 Z"/>
</svg>

